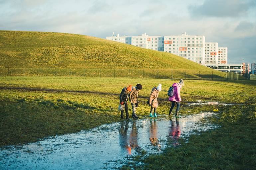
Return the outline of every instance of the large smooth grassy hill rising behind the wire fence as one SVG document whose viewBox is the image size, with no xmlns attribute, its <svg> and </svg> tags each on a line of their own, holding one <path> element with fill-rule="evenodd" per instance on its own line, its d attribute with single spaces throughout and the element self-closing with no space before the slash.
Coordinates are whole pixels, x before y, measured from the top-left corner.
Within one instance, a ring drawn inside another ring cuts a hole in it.
<svg viewBox="0 0 256 170">
<path fill-rule="evenodd" d="M 55 32 L 0 31 L 0 66 L 2 68 L 181 69 L 209 72 L 207 74 L 213 71 L 214 75 L 223 76 L 219 71 L 174 54 L 96 37 Z"/>
</svg>

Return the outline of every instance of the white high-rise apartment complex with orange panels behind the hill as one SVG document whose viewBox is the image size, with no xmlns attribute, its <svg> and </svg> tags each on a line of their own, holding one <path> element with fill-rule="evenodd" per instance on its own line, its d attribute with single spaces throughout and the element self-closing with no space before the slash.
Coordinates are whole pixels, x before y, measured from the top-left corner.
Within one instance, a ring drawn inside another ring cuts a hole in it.
<svg viewBox="0 0 256 170">
<path fill-rule="evenodd" d="M 139 36 L 119 36 L 113 32 L 106 39 L 141 48 L 172 53 L 198 64 L 226 64 L 227 47 L 218 47 L 217 42 L 205 42 L 203 35 L 149 36 L 146 33 Z"/>
</svg>

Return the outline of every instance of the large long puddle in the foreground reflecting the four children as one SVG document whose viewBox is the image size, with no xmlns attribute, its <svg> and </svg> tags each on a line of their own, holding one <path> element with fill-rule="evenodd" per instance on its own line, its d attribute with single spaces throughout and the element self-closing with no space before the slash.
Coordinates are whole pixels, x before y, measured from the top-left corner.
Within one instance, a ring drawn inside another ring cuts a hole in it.
<svg viewBox="0 0 256 170">
<path fill-rule="evenodd" d="M 170 143 L 179 145 L 178 138 L 216 128 L 200 121 L 213 114 L 116 122 L 27 145 L 7 146 L 0 150 L 0 169 L 115 169 L 131 155 L 139 154 L 138 150 L 159 153 Z"/>
</svg>

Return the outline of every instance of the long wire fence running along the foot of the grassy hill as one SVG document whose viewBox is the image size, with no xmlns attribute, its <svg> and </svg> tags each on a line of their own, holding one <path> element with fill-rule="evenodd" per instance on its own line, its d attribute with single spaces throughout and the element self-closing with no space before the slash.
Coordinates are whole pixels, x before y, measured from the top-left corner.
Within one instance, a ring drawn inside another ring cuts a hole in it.
<svg viewBox="0 0 256 170">
<path fill-rule="evenodd" d="M 0 67 L 0 76 L 68 76 L 68 77 L 127 77 L 185 80 L 250 80 L 250 75 L 233 72 L 177 69 L 78 69 L 78 68 L 11 68 Z"/>
</svg>

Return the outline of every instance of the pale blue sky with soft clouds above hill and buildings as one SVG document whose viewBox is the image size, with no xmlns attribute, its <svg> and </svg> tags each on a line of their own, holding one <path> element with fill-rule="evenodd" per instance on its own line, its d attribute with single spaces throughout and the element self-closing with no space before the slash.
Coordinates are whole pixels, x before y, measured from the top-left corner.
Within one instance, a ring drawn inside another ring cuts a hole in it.
<svg viewBox="0 0 256 170">
<path fill-rule="evenodd" d="M 228 63 L 256 61 L 256 0 L 0 0 L 0 30 L 204 35 Z"/>
</svg>

